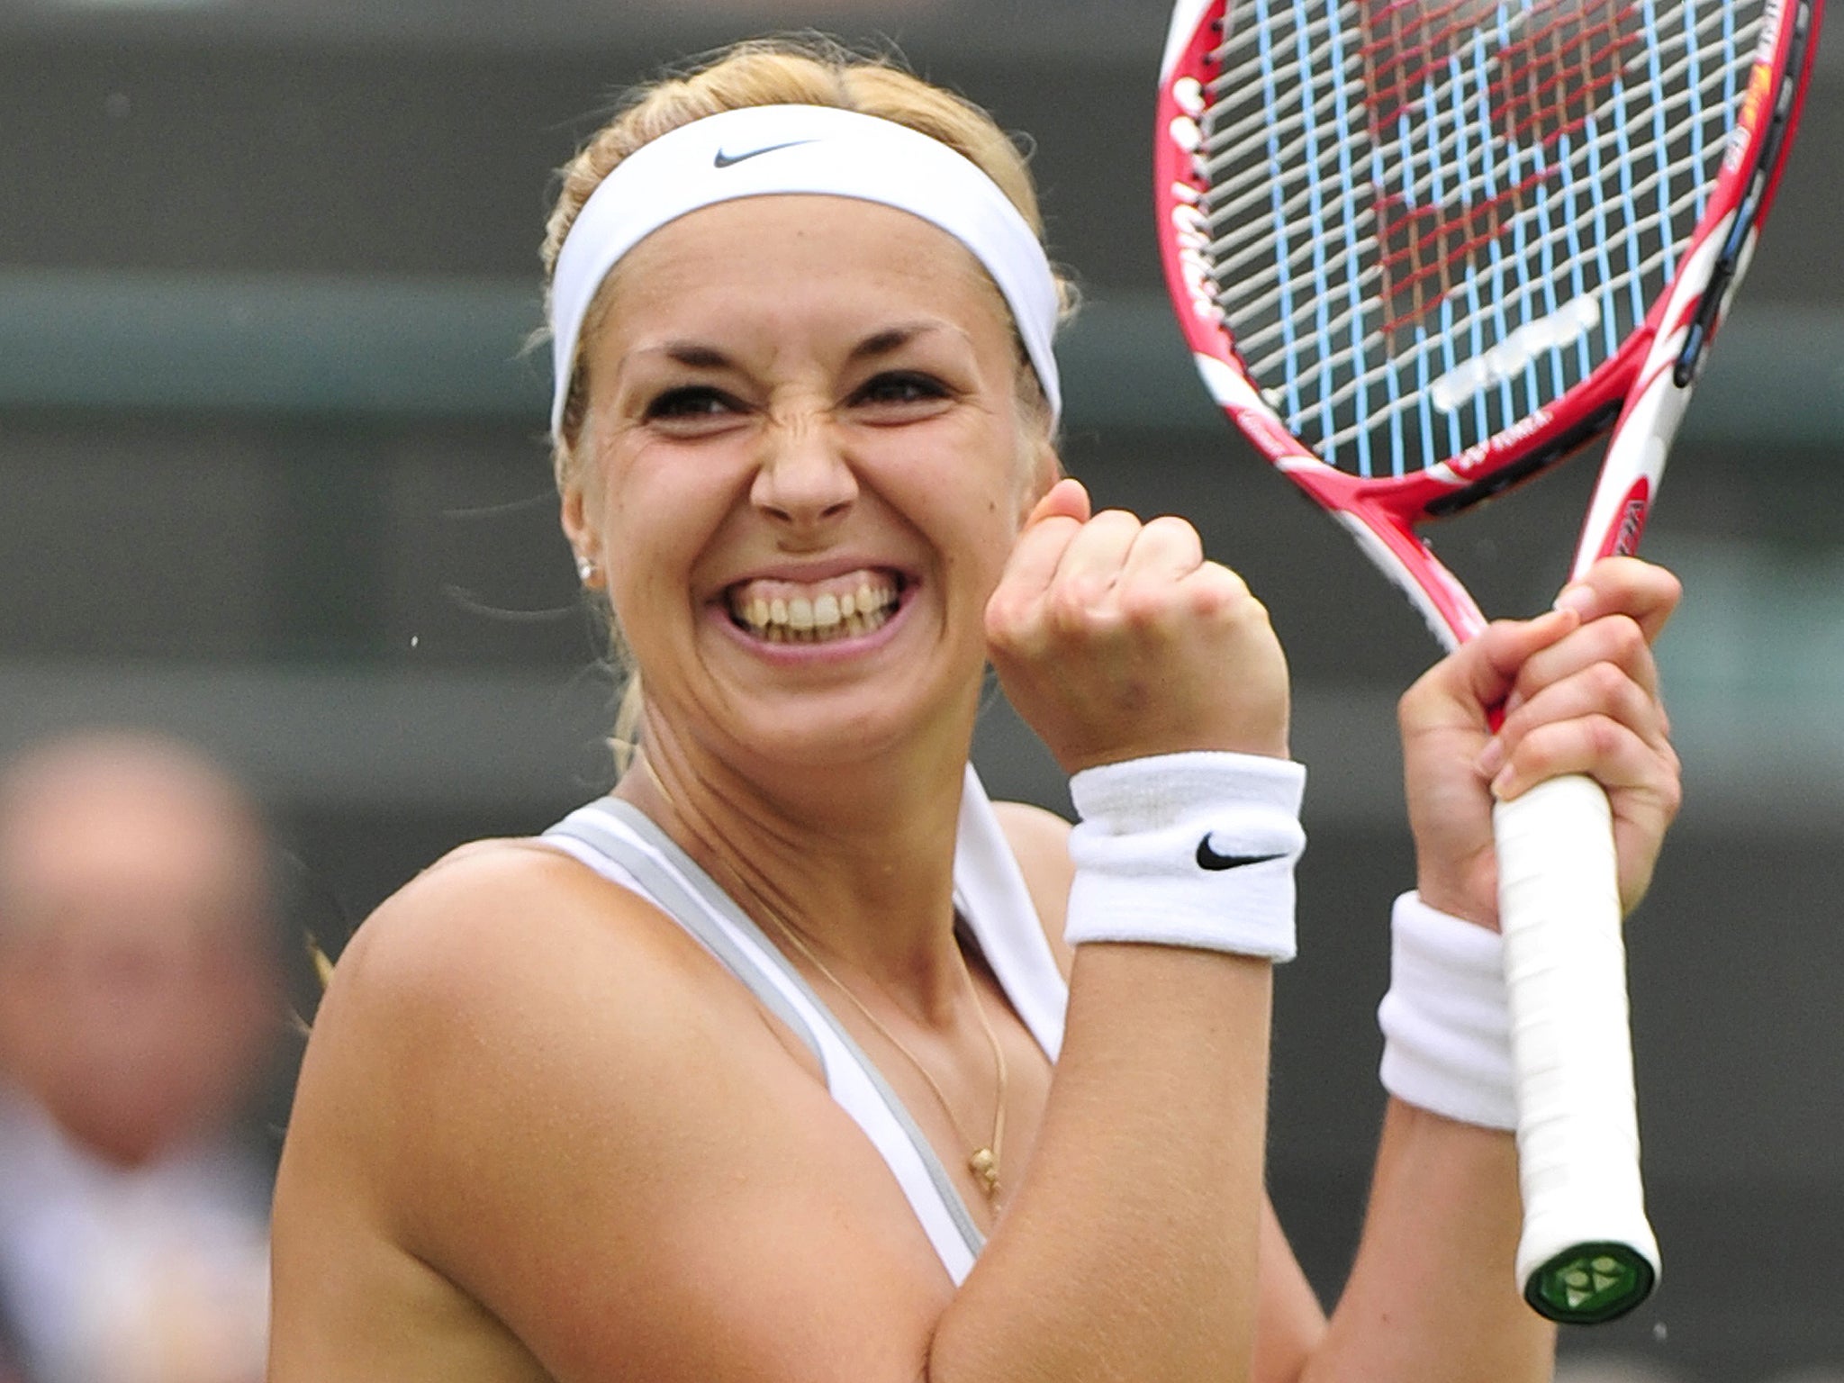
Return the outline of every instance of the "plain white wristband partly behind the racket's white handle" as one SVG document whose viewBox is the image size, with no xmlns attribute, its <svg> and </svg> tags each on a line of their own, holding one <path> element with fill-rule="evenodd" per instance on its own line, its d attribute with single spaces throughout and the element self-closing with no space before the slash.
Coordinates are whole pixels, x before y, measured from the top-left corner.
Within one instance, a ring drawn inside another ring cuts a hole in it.
<svg viewBox="0 0 1844 1383">
<path fill-rule="evenodd" d="M 1516 1129 L 1503 939 L 1416 892 L 1396 900 L 1390 939 L 1383 1088 L 1460 1123 Z"/>
</svg>

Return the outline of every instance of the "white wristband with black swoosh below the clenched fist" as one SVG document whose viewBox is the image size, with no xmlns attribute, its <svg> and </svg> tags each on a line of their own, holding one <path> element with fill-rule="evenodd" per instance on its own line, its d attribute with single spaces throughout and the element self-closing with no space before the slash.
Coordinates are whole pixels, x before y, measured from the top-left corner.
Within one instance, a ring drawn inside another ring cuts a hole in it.
<svg viewBox="0 0 1844 1383">
<path fill-rule="evenodd" d="M 1261 754 L 1156 754 L 1077 773 L 1064 937 L 1291 961 L 1304 791 L 1304 767 Z"/>
</svg>

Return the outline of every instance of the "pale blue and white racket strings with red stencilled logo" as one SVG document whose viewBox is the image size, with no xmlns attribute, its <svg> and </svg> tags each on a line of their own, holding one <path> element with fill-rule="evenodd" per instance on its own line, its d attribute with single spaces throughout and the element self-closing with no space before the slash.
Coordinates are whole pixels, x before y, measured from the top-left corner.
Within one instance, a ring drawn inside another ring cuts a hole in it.
<svg viewBox="0 0 1844 1383">
<path fill-rule="evenodd" d="M 1676 269 L 1761 11 L 1232 4 L 1197 151 L 1204 258 L 1289 430 L 1407 474 L 1588 378 Z"/>
</svg>

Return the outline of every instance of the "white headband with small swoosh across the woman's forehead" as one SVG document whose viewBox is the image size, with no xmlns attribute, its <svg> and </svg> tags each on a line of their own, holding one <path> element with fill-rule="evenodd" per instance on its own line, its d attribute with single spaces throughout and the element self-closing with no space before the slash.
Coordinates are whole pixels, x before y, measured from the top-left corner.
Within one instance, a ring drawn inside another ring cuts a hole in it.
<svg viewBox="0 0 1844 1383">
<path fill-rule="evenodd" d="M 561 437 L 583 315 L 616 262 L 668 221 L 739 197 L 819 194 L 920 216 L 999 286 L 1025 354 L 1062 415 L 1057 278 L 1036 234 L 979 168 L 894 120 L 822 105 L 752 105 L 695 120 L 616 164 L 583 205 L 551 275 L 551 437 Z"/>
</svg>

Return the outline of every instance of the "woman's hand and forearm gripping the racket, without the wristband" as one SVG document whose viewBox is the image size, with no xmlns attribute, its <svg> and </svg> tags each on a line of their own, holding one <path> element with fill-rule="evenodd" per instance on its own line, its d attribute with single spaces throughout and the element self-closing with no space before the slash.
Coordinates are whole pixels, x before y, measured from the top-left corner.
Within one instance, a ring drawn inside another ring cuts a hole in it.
<svg viewBox="0 0 1844 1383">
<path fill-rule="evenodd" d="M 1650 655 L 1676 599 L 1667 572 L 1602 562 L 1558 612 L 1494 625 L 1409 690 L 1401 732 L 1424 902 L 1495 929 L 1492 800 L 1560 773 L 1608 789 L 1621 900 L 1639 902 L 1678 806 Z M 1508 714 L 1494 736 L 1499 703 Z M 1519 1226 L 1512 1134 L 1392 1099 L 1357 1259 L 1306 1377 L 1547 1379 L 1554 1330 L 1518 1293 Z"/>
</svg>

